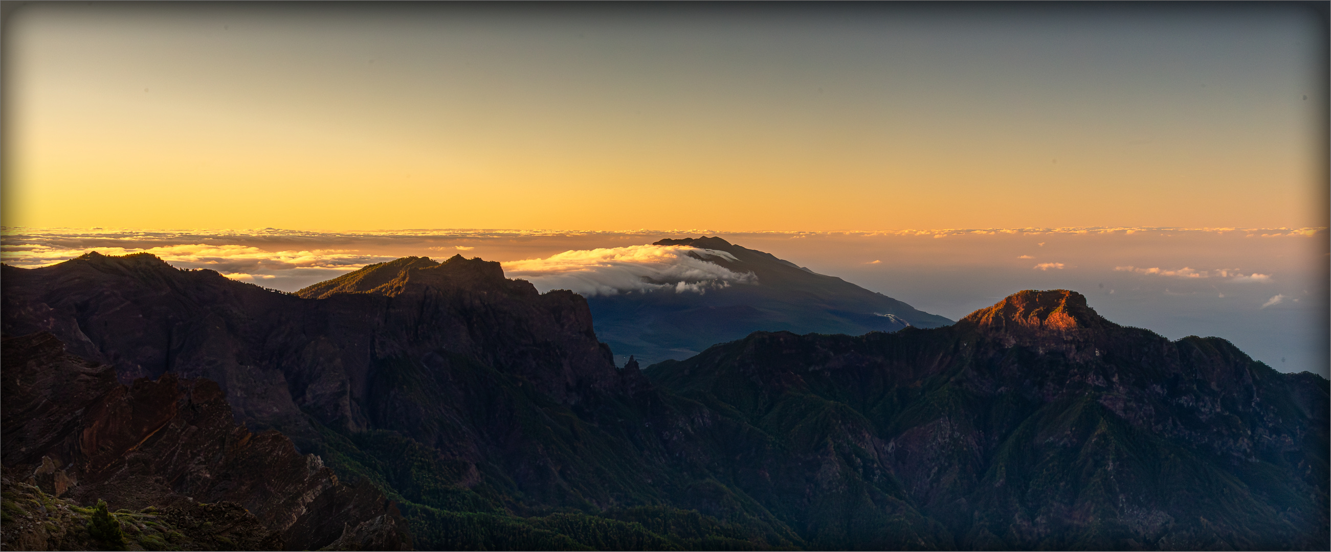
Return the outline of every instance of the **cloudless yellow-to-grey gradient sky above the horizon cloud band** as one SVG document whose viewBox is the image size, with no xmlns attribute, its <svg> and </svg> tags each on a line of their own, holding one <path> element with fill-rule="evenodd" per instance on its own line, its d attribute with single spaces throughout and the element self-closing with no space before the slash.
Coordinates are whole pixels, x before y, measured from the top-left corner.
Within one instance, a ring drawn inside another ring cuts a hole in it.
<svg viewBox="0 0 1331 552">
<path fill-rule="evenodd" d="M 1292 4 L 45 3 L 5 226 L 1327 225 Z"/>
</svg>

